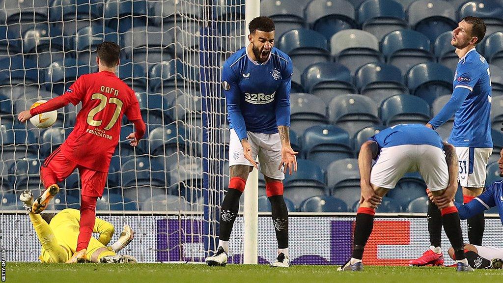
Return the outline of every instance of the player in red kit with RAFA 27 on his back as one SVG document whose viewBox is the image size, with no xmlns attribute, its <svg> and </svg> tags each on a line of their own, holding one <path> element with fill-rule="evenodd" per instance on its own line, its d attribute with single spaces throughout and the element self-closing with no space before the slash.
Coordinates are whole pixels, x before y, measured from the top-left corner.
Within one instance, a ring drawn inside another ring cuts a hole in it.
<svg viewBox="0 0 503 283">
<path fill-rule="evenodd" d="M 145 133 L 145 123 L 134 91 L 115 75 L 119 64 L 119 45 L 103 42 L 97 52 L 98 73 L 80 76 L 60 97 L 18 115 L 18 120 L 25 122 L 34 115 L 59 109 L 68 103 L 82 103 L 73 131 L 45 159 L 40 169 L 45 191 L 32 206 L 35 214 L 44 210 L 59 191 L 57 182 L 78 169 L 82 182 L 80 229 L 77 248 L 67 262 L 86 260 L 95 225 L 96 200 L 103 195 L 110 160 L 119 143 L 122 115 L 125 114 L 136 129 L 127 136 L 131 146 L 137 146 Z"/>
</svg>

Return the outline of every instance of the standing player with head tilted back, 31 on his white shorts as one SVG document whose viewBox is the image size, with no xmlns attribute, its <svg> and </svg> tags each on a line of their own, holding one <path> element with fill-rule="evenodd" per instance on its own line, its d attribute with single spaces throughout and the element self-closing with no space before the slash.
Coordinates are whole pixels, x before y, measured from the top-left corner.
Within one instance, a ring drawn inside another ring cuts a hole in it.
<svg viewBox="0 0 503 283">
<path fill-rule="evenodd" d="M 436 129 L 454 115 L 454 126 L 448 143 L 456 148 L 459 161 L 459 184 L 463 188 L 463 202 L 467 203 L 482 193 L 486 166 L 492 153 L 491 138 L 491 81 L 489 65 L 475 49 L 485 35 L 484 22 L 476 17 L 465 17 L 453 31 L 451 44 L 459 56 L 454 91 L 451 99 L 427 126 Z M 468 240 L 482 245 L 484 214 L 469 218 Z M 431 247 L 411 265 L 443 265 L 440 249 L 442 218 L 431 201 L 428 203 L 428 231 Z"/>
</svg>

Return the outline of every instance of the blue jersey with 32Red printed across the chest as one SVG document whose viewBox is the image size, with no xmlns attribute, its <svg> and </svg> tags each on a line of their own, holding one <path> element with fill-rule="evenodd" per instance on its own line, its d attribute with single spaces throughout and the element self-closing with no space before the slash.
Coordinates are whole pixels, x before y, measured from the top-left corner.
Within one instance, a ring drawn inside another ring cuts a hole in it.
<svg viewBox="0 0 503 283">
<path fill-rule="evenodd" d="M 222 89 L 227 119 L 239 139 L 246 131 L 276 133 L 290 126 L 292 60 L 273 47 L 264 63 L 252 60 L 243 47 L 232 54 L 222 69 Z"/>
</svg>

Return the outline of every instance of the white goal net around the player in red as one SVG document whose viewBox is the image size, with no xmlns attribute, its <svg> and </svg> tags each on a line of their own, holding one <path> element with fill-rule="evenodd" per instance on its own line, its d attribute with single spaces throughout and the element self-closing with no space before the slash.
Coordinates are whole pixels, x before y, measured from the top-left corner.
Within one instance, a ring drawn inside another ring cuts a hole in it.
<svg viewBox="0 0 503 283">
<path fill-rule="evenodd" d="M 103 41 L 122 48 L 117 75 L 136 92 L 147 131 L 132 148 L 125 137 L 133 125 L 123 120 L 98 216 L 116 228 L 111 243 L 124 224 L 132 227 L 135 240 L 124 253 L 139 261 L 204 260 L 216 244 L 228 184 L 220 67 L 243 46 L 244 8 L 245 0 L 0 1 L 0 244 L 7 260 L 38 260 L 40 244 L 18 197 L 43 190 L 40 165 L 71 132 L 80 105 L 60 109 L 48 129 L 21 124 L 17 114 L 97 72 Z M 78 209 L 80 186 L 75 171 L 48 210 Z M 234 235 L 240 229 L 236 222 Z M 234 242 L 231 253 L 242 254 Z"/>
</svg>

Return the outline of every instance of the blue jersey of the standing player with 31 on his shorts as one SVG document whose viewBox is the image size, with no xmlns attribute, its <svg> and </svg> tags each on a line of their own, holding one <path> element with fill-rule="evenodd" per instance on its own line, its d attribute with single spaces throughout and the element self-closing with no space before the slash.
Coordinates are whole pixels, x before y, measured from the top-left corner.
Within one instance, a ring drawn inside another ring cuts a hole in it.
<svg viewBox="0 0 503 283">
<path fill-rule="evenodd" d="M 448 142 L 455 147 L 492 148 L 489 64 L 475 48 L 459 60 L 453 88 L 470 93 L 454 115 Z"/>
</svg>

